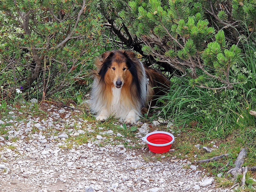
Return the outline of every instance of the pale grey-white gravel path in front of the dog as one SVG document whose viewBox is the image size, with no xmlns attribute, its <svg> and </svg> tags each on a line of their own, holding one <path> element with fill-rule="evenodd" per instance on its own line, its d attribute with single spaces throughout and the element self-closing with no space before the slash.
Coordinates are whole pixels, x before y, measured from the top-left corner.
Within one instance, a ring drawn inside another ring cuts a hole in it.
<svg viewBox="0 0 256 192">
<path fill-rule="evenodd" d="M 105 135 L 115 141 L 118 134 L 104 127 L 96 127 L 102 130 L 101 135 L 81 145 L 72 143 L 68 139 L 94 129 L 87 120 L 76 117 L 79 111 L 66 110 L 49 106 L 45 120 L 28 116 L 17 122 L 15 110 L 9 112 L 13 120 L 0 118 L 0 124 L 11 130 L 0 135 L 1 192 L 226 191 L 215 188 L 207 173 L 189 168 L 187 159 L 162 156 L 161 162 L 145 161 L 143 157 L 152 153 L 142 150 L 145 143 L 140 140 L 133 143 L 124 138 L 132 146 L 142 145 L 136 150 L 122 144 L 103 145 Z"/>
</svg>

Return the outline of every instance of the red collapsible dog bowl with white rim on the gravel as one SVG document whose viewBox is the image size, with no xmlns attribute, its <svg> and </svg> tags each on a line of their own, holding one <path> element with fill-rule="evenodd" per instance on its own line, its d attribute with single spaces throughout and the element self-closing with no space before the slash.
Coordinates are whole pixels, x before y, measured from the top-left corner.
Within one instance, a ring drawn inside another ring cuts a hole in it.
<svg viewBox="0 0 256 192">
<path fill-rule="evenodd" d="M 149 150 L 153 153 L 166 153 L 174 142 L 174 136 L 165 131 L 154 131 L 141 138 L 147 142 Z"/>
</svg>

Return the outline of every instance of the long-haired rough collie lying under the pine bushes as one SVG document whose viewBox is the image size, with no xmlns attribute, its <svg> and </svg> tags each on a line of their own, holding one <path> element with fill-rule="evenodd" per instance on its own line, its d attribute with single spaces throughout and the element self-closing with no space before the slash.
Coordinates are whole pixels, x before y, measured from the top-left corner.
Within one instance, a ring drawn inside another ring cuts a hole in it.
<svg viewBox="0 0 256 192">
<path fill-rule="evenodd" d="M 114 115 L 126 124 L 135 124 L 142 108 L 148 108 L 148 101 L 165 93 L 159 87 L 170 87 L 168 80 L 154 69 L 144 67 L 130 50 L 106 51 L 95 65 L 89 104 L 97 121 Z"/>
</svg>

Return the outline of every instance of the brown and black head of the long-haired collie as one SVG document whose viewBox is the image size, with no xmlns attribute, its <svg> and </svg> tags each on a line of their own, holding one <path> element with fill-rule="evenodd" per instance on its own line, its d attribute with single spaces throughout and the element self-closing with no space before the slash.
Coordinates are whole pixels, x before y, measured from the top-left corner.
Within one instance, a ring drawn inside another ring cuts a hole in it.
<svg viewBox="0 0 256 192">
<path fill-rule="evenodd" d="M 112 50 L 104 52 L 96 61 L 97 72 L 106 84 L 121 88 L 130 84 L 136 68 L 133 66 L 134 52 L 130 50 Z M 137 72 L 136 72 L 137 73 Z"/>
</svg>

